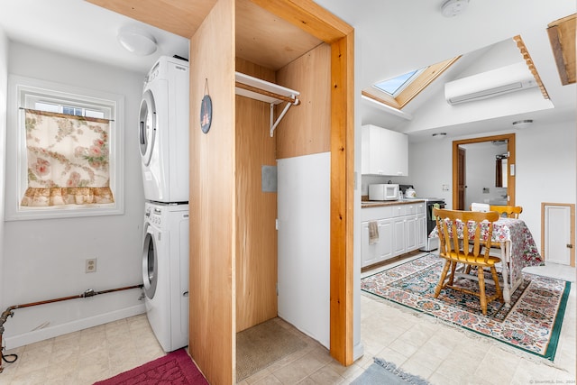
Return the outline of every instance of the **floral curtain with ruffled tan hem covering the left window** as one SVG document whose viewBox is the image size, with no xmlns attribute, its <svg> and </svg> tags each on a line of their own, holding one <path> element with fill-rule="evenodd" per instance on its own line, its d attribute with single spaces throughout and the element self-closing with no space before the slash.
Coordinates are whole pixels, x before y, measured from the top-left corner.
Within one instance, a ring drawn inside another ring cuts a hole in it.
<svg viewBox="0 0 577 385">
<path fill-rule="evenodd" d="M 28 188 L 22 206 L 114 203 L 108 120 L 25 110 Z"/>
</svg>

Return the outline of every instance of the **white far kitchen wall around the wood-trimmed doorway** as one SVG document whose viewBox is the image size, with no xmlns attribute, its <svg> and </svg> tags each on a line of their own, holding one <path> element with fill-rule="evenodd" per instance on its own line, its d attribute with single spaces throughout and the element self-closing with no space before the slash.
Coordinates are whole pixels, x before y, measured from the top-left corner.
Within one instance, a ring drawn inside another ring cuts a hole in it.
<svg viewBox="0 0 577 385">
<path fill-rule="evenodd" d="M 499 132 L 499 134 L 504 132 Z M 509 132 L 510 133 L 510 132 Z M 516 205 L 523 206 L 522 219 L 541 245 L 541 203 L 575 204 L 576 128 L 575 122 L 516 130 Z M 490 136 L 485 133 L 476 136 Z M 411 181 L 421 197 L 444 197 L 447 208 L 453 207 L 453 140 L 472 136 L 447 137 L 440 141 L 409 143 Z M 443 191 L 442 185 L 449 186 Z"/>
</svg>

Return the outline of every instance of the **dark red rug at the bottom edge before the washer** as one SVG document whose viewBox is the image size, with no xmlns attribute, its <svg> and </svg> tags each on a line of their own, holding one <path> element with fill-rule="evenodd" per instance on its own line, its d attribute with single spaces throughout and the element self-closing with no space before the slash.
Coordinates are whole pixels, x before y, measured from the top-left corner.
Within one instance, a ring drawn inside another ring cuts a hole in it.
<svg viewBox="0 0 577 385">
<path fill-rule="evenodd" d="M 124 371 L 95 385 L 208 385 L 184 349 L 147 362 L 131 371 Z"/>
</svg>

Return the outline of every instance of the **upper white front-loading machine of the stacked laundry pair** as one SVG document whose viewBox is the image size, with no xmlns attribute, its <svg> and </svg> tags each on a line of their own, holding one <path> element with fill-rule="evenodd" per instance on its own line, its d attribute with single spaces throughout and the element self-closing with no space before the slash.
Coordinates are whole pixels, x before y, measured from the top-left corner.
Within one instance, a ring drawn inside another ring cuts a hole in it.
<svg viewBox="0 0 577 385">
<path fill-rule="evenodd" d="M 144 81 L 139 142 L 144 198 L 188 202 L 188 61 L 162 56 Z"/>
</svg>

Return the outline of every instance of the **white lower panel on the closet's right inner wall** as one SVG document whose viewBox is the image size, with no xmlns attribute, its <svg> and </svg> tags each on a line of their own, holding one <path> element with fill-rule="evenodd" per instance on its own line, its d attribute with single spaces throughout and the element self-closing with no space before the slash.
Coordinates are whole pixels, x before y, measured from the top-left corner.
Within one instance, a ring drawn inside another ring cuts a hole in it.
<svg viewBox="0 0 577 385">
<path fill-rule="evenodd" d="M 331 153 L 277 164 L 279 316 L 329 348 Z"/>
</svg>

